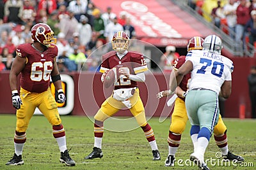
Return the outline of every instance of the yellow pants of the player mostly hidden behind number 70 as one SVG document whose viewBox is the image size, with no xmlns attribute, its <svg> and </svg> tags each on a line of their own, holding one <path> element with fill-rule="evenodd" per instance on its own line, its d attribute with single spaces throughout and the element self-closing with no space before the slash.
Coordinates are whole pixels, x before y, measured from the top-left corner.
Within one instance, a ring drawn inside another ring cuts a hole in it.
<svg viewBox="0 0 256 170">
<path fill-rule="evenodd" d="M 172 120 L 170 125 L 170 131 L 175 134 L 182 134 L 184 132 L 186 124 L 188 122 L 188 115 L 186 111 L 185 102 L 177 97 L 175 100 L 174 110 L 172 113 Z M 214 134 L 224 134 L 227 130 L 226 125 L 223 123 L 221 115 L 219 115 L 218 124 L 214 127 Z"/>
</svg>

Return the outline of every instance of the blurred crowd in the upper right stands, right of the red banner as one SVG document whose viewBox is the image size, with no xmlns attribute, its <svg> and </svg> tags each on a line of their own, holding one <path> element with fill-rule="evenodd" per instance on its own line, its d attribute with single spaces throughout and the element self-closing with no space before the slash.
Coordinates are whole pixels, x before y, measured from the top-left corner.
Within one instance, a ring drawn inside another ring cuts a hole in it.
<svg viewBox="0 0 256 170">
<path fill-rule="evenodd" d="M 256 0 L 188 0 L 188 5 L 234 39 L 237 51 L 254 53 Z"/>
</svg>

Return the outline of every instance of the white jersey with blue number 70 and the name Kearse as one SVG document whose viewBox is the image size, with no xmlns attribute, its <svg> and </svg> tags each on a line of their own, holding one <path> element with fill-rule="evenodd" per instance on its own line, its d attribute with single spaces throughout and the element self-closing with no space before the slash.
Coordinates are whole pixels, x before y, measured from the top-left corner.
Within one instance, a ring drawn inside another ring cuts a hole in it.
<svg viewBox="0 0 256 170">
<path fill-rule="evenodd" d="M 192 50 L 186 61 L 193 63 L 189 90 L 204 88 L 219 93 L 224 81 L 231 81 L 234 69 L 232 60 L 207 50 Z"/>
</svg>

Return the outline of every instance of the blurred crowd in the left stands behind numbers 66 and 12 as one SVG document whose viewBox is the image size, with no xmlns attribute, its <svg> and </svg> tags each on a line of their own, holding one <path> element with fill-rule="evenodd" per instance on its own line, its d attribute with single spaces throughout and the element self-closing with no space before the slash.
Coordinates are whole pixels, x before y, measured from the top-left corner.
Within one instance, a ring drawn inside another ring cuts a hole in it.
<svg viewBox="0 0 256 170">
<path fill-rule="evenodd" d="M 100 10 L 90 0 L 2 0 L 0 71 L 12 66 L 17 45 L 31 43 L 30 30 L 37 23 L 54 31 L 60 72 L 97 71 L 102 54 L 112 50 L 108 43 L 116 31 L 136 36 L 124 12 L 113 13 L 111 6 Z"/>
</svg>

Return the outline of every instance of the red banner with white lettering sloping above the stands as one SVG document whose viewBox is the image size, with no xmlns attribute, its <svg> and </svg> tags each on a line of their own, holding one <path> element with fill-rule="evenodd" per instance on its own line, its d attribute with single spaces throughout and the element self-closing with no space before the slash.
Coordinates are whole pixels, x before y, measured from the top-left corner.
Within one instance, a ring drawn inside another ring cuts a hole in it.
<svg viewBox="0 0 256 170">
<path fill-rule="evenodd" d="M 207 30 L 205 27 L 202 34 L 199 29 L 204 26 L 170 1 L 112 0 L 93 1 L 93 3 L 102 12 L 111 6 L 112 12 L 118 16 L 120 12 L 126 13 L 135 27 L 137 38 L 156 46 L 186 47 L 191 37 L 204 37 L 205 29 Z M 194 28 L 195 22 L 197 29 Z"/>
</svg>

